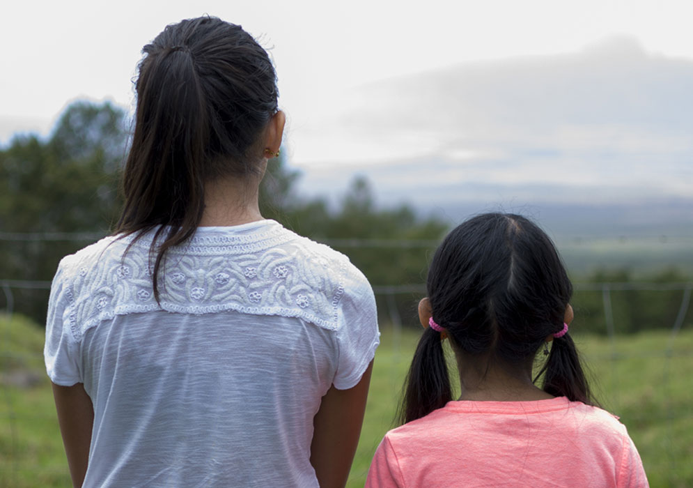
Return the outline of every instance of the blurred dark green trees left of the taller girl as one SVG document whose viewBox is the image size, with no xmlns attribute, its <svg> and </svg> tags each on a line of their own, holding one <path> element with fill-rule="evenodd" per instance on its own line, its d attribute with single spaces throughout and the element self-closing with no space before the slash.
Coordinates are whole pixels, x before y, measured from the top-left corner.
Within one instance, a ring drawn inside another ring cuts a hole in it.
<svg viewBox="0 0 693 488">
<path fill-rule="evenodd" d="M 15 137 L 0 151 L 0 229 L 5 233 L 107 234 L 120 201 L 117 178 L 127 144 L 125 112 L 77 102 L 47 142 Z M 50 280 L 59 260 L 84 241 L 0 241 L 0 277 Z M 42 321 L 47 292 L 17 290 L 17 310 Z"/>
</svg>

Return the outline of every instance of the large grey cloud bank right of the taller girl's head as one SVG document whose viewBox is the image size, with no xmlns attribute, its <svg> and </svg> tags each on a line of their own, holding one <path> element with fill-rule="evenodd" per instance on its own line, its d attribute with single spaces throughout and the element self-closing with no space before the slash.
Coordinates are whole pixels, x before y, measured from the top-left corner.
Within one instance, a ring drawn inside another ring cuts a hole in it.
<svg viewBox="0 0 693 488">
<path fill-rule="evenodd" d="M 316 147 L 341 139 L 340 150 L 316 160 L 351 160 L 392 195 L 428 180 L 441 199 L 472 183 L 476 197 L 493 189 L 487 199 L 538 187 L 570 199 L 693 198 L 692 87 L 693 61 L 623 36 L 465 63 L 353 91 L 314 133 Z"/>
</svg>

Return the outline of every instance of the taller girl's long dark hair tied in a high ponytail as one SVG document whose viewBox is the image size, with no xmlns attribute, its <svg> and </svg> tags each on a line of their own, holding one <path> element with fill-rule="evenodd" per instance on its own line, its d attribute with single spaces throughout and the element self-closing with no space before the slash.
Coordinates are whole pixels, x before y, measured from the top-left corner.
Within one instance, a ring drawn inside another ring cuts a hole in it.
<svg viewBox="0 0 693 488">
<path fill-rule="evenodd" d="M 260 135 L 277 112 L 278 92 L 265 49 L 215 17 L 166 26 L 142 53 L 115 233 L 139 238 L 157 228 L 150 261 L 158 301 L 162 259 L 194 234 L 205 182 L 260 172 Z"/>
</svg>

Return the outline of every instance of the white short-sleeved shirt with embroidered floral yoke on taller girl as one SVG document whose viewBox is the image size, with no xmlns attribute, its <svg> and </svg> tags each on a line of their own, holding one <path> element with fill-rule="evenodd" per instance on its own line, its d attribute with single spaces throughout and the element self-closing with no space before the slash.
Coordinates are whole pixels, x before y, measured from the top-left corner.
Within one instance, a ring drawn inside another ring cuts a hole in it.
<svg viewBox="0 0 693 488">
<path fill-rule="evenodd" d="M 201 227 L 169 250 L 158 305 L 152 238 L 104 238 L 52 285 L 47 372 L 94 406 L 84 487 L 317 487 L 320 398 L 379 342 L 366 278 L 272 220 Z"/>
</svg>

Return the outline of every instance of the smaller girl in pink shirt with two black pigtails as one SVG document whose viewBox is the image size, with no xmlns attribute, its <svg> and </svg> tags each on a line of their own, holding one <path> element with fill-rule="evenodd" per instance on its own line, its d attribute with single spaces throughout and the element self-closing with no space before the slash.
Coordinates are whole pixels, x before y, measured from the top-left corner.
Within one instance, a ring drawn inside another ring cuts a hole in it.
<svg viewBox="0 0 693 488">
<path fill-rule="evenodd" d="M 404 425 L 380 443 L 366 487 L 648 486 L 625 427 L 591 395 L 569 332 L 572 285 L 541 229 L 512 214 L 467 220 L 435 252 L 427 291 Z"/>
</svg>

